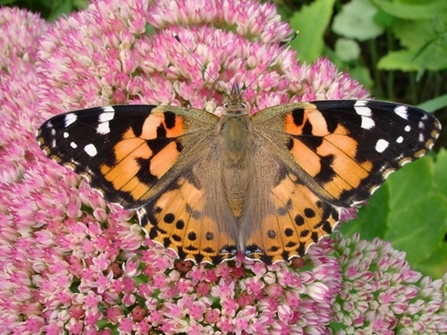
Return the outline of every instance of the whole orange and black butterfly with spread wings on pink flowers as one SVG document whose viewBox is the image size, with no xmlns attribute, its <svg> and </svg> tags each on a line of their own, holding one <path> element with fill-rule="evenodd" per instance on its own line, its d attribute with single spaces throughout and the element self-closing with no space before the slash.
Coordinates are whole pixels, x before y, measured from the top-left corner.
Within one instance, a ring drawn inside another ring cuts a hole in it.
<svg viewBox="0 0 447 335">
<path fill-rule="evenodd" d="M 250 116 L 238 85 L 223 114 L 120 105 L 54 116 L 37 141 L 106 200 L 136 209 L 148 236 L 183 260 L 242 251 L 290 261 L 332 232 L 343 208 L 422 157 L 441 129 L 413 106 L 299 102 Z"/>
</svg>

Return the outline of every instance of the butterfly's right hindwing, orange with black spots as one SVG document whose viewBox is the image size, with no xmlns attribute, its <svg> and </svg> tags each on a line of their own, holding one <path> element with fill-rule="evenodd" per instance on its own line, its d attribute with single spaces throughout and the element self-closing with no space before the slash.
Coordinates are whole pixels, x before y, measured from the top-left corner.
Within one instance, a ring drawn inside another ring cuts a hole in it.
<svg viewBox="0 0 447 335">
<path fill-rule="evenodd" d="M 253 211 L 240 225 L 245 256 L 271 264 L 304 256 L 339 221 L 337 207 L 321 200 L 271 146 L 255 133 Z"/>
</svg>

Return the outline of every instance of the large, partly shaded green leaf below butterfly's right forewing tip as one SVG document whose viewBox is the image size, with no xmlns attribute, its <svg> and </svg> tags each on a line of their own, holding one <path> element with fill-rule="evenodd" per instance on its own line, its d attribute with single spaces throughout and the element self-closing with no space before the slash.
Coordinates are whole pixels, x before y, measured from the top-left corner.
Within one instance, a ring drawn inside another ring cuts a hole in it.
<svg viewBox="0 0 447 335">
<path fill-rule="evenodd" d="M 407 253 L 413 268 L 439 278 L 447 270 L 446 174 L 447 150 L 441 150 L 436 162 L 427 156 L 405 166 L 360 208 L 357 219 L 341 224 L 341 232 L 388 240 Z"/>
</svg>

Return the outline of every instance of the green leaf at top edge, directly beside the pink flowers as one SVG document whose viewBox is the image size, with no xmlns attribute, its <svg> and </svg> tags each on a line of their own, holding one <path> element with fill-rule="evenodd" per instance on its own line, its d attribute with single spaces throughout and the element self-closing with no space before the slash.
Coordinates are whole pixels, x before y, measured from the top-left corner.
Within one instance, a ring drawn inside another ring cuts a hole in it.
<svg viewBox="0 0 447 335">
<path fill-rule="evenodd" d="M 323 51 L 324 33 L 329 26 L 335 0 L 316 0 L 295 13 L 290 25 L 298 30 L 291 46 L 298 51 L 301 61 L 314 62 Z"/>
</svg>

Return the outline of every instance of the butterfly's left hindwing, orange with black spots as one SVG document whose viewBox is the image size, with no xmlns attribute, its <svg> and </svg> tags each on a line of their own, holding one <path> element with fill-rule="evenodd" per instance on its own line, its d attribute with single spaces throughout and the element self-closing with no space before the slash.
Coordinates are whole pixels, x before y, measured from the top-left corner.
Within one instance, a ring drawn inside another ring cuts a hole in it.
<svg viewBox="0 0 447 335">
<path fill-rule="evenodd" d="M 217 144 L 210 141 L 159 197 L 137 211 L 150 239 L 196 263 L 219 264 L 237 251 L 237 222 L 221 193 Z"/>
</svg>

